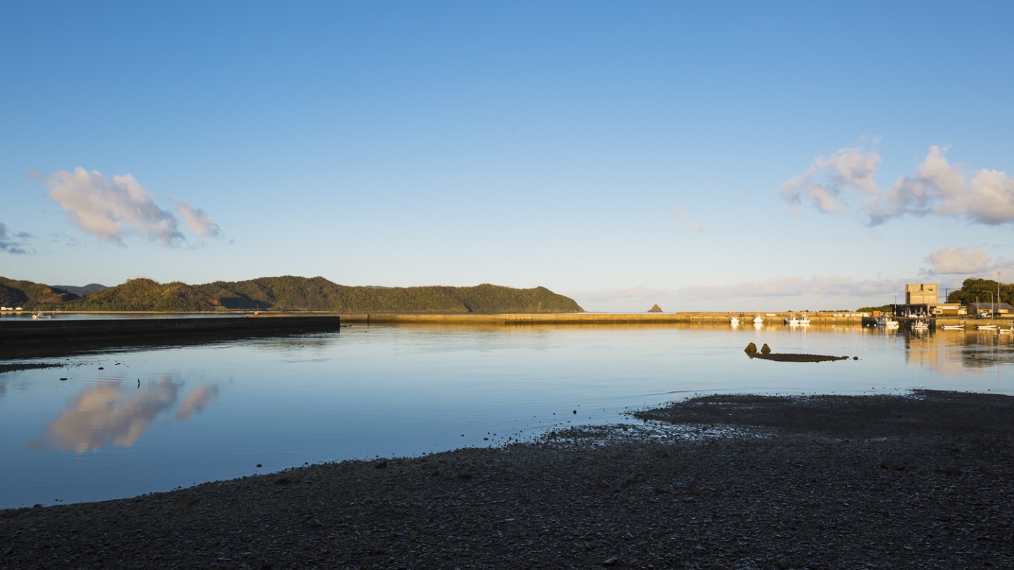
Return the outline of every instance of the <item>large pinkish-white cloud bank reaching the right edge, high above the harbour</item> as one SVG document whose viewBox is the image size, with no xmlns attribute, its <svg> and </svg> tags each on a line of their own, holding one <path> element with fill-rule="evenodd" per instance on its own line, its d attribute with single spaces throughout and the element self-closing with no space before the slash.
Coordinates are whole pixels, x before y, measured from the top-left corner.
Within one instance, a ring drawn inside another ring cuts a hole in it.
<svg viewBox="0 0 1014 570">
<path fill-rule="evenodd" d="M 808 199 L 817 210 L 830 213 L 847 211 L 846 196 L 852 192 L 865 203 L 864 213 L 873 225 L 906 214 L 989 225 L 1014 223 L 1014 177 L 989 169 L 969 177 L 961 165 L 946 159 L 946 147 L 931 146 L 913 175 L 882 190 L 876 183 L 880 155 L 875 150 L 843 148 L 829 158 L 817 157 L 783 185 L 782 195 L 796 207 Z"/>
</svg>

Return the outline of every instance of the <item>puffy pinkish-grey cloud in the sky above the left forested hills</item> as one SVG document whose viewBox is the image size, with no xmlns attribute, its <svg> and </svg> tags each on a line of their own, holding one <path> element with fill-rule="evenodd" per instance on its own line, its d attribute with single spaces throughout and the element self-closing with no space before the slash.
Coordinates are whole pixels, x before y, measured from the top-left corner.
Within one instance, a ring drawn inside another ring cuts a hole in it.
<svg viewBox="0 0 1014 570">
<path fill-rule="evenodd" d="M 78 166 L 60 170 L 46 180 L 50 197 L 67 212 L 74 225 L 103 241 L 124 243 L 138 234 L 173 245 L 185 238 L 179 220 L 155 204 L 155 195 L 131 174 L 112 179 Z M 178 202 L 177 211 L 198 235 L 218 235 L 220 230 L 202 210 Z"/>
</svg>

